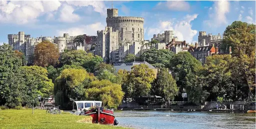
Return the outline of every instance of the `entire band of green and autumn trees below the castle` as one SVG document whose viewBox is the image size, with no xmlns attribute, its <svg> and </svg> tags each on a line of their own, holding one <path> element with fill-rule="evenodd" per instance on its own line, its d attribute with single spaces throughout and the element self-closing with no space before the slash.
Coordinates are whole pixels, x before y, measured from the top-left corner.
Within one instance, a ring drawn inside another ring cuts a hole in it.
<svg viewBox="0 0 256 129">
<path fill-rule="evenodd" d="M 24 55 L 10 45 L 0 46 L 0 105 L 9 108 L 38 104 L 54 96 L 56 105 L 70 108 L 72 101 L 98 100 L 116 108 L 125 98 L 157 95 L 167 102 L 180 101 L 186 92 L 191 103 L 255 100 L 255 25 L 234 21 L 224 31 L 221 48 L 231 55 L 207 57 L 204 66 L 188 52 L 150 49 L 139 57 L 126 55 L 123 62 L 147 61 L 131 71 L 115 69 L 101 57 L 82 50 L 58 53 L 50 42 L 35 46 L 33 65 L 25 66 Z M 183 90 L 184 89 L 184 90 Z"/>
</svg>

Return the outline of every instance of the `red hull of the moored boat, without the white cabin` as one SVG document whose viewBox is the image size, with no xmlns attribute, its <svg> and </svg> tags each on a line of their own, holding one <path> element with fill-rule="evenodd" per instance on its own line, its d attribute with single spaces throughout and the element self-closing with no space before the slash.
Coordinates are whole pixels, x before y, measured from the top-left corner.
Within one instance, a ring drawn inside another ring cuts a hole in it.
<svg viewBox="0 0 256 129">
<path fill-rule="evenodd" d="M 115 117 L 110 110 L 94 109 L 84 113 L 85 116 L 92 117 L 92 123 L 98 123 L 102 125 L 114 125 Z"/>
</svg>

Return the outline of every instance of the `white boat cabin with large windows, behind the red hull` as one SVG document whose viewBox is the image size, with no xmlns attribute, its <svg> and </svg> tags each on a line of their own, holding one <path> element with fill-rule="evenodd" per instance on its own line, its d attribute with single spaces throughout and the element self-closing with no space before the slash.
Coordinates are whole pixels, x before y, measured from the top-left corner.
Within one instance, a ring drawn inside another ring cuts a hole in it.
<svg viewBox="0 0 256 129">
<path fill-rule="evenodd" d="M 74 101 L 73 102 L 73 110 L 76 111 L 83 111 L 89 110 L 90 108 L 101 108 L 102 102 L 101 101 Z"/>
</svg>

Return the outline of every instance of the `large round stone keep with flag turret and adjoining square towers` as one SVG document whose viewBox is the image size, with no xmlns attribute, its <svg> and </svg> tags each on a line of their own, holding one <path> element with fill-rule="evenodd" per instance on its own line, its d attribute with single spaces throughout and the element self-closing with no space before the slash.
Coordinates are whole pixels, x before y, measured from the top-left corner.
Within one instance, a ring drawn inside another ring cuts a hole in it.
<svg viewBox="0 0 256 129">
<path fill-rule="evenodd" d="M 118 16 L 118 9 L 107 9 L 106 27 L 97 31 L 94 54 L 104 62 L 120 62 L 126 54 L 139 56 L 149 48 L 144 41 L 144 18 Z"/>
</svg>

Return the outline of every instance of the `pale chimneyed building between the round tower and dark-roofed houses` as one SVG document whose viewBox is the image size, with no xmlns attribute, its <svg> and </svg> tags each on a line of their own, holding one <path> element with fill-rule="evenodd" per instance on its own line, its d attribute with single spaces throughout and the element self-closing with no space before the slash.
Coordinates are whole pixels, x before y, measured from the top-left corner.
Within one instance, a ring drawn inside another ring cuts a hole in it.
<svg viewBox="0 0 256 129">
<path fill-rule="evenodd" d="M 165 48 L 177 54 L 180 51 L 187 51 L 190 45 L 186 41 L 176 41 L 174 38 L 165 45 Z"/>
</svg>

